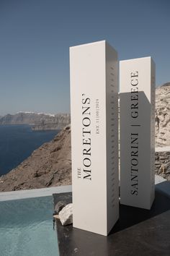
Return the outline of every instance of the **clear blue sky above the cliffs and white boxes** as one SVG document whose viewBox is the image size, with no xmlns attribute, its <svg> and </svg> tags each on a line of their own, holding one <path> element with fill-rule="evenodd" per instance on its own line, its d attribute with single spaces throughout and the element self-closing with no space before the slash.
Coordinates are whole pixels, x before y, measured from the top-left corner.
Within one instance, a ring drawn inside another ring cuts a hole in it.
<svg viewBox="0 0 170 256">
<path fill-rule="evenodd" d="M 169 0 L 0 0 L 0 115 L 70 112 L 69 47 L 107 40 L 170 82 Z"/>
</svg>

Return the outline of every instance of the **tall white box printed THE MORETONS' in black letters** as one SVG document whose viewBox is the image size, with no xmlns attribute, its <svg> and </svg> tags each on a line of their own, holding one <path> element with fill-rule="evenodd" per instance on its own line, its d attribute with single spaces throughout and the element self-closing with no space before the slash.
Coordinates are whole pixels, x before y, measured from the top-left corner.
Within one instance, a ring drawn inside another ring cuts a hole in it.
<svg viewBox="0 0 170 256">
<path fill-rule="evenodd" d="M 70 48 L 73 227 L 107 236 L 119 217 L 117 52 Z"/>
</svg>

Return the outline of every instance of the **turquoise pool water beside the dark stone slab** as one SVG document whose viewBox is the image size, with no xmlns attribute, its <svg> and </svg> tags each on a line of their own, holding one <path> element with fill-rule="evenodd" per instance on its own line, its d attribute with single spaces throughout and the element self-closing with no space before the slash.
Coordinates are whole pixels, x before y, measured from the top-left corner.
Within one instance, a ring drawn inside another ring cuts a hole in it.
<svg viewBox="0 0 170 256">
<path fill-rule="evenodd" d="M 53 197 L 0 202 L 0 255 L 59 255 Z"/>
</svg>

